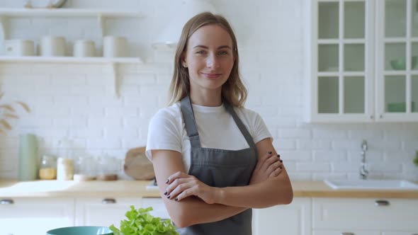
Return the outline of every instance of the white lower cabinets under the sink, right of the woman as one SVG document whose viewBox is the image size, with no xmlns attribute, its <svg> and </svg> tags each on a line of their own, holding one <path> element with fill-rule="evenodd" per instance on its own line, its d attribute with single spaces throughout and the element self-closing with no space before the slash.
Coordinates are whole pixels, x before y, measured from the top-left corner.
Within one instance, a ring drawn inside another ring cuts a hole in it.
<svg viewBox="0 0 418 235">
<path fill-rule="evenodd" d="M 256 209 L 253 234 L 418 235 L 418 200 L 295 197 Z"/>
</svg>

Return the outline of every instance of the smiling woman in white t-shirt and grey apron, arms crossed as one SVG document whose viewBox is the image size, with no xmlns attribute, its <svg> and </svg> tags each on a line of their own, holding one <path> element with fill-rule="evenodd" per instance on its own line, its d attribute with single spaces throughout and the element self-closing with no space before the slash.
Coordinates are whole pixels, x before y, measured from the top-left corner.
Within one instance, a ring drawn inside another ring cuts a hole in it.
<svg viewBox="0 0 418 235">
<path fill-rule="evenodd" d="M 237 40 L 222 16 L 184 25 L 171 105 L 149 124 L 147 156 L 181 234 L 252 234 L 252 210 L 293 191 L 261 117 L 243 108 Z"/>
</svg>

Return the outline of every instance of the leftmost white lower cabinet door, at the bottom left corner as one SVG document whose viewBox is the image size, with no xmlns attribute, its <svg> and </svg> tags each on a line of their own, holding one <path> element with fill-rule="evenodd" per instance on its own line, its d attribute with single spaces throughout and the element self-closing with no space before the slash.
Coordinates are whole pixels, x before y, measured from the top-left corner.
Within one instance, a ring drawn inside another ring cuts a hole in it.
<svg viewBox="0 0 418 235">
<path fill-rule="evenodd" d="M 50 229 L 73 225 L 73 199 L 0 199 L 0 235 L 46 234 Z"/>
</svg>

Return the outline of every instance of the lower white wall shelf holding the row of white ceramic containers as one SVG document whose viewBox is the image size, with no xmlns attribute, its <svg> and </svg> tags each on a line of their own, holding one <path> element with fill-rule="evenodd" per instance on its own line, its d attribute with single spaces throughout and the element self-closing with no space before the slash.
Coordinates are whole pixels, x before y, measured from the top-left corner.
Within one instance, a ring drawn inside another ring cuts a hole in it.
<svg viewBox="0 0 418 235">
<path fill-rule="evenodd" d="M 48 63 L 125 63 L 142 64 L 140 57 L 0 57 L 0 62 L 48 62 Z"/>
</svg>

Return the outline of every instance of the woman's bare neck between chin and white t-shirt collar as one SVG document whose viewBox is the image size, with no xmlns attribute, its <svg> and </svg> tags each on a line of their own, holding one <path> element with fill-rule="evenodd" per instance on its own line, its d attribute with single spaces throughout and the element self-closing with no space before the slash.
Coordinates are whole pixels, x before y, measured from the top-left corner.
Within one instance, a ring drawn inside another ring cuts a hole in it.
<svg viewBox="0 0 418 235">
<path fill-rule="evenodd" d="M 195 92 L 193 92 L 195 91 Z M 191 89 L 190 99 L 191 103 L 195 105 L 217 107 L 222 105 L 222 89 L 216 90 L 198 90 Z"/>
</svg>

